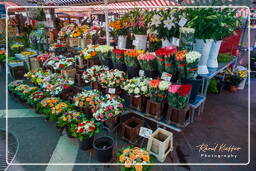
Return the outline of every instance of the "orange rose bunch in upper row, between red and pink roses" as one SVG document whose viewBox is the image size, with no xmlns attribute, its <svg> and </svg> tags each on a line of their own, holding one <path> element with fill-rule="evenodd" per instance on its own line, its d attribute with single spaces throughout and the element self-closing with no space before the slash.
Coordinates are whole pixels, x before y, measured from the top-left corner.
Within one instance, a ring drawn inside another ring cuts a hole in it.
<svg viewBox="0 0 256 171">
<path fill-rule="evenodd" d="M 129 79 L 139 76 L 140 65 L 137 57 L 143 53 L 144 53 L 143 50 L 132 50 L 132 49 L 126 50 L 124 52 L 124 62 L 127 67 Z"/>
</svg>

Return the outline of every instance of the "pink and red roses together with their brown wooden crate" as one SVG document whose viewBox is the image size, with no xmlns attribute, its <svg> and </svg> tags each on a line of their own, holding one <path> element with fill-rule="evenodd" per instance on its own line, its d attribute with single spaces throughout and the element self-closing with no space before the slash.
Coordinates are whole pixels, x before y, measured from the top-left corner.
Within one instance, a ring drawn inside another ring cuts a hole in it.
<svg viewBox="0 0 256 171">
<path fill-rule="evenodd" d="M 185 127 L 190 120 L 188 105 L 191 85 L 171 85 L 168 89 L 168 111 L 165 121 L 178 127 Z"/>
</svg>

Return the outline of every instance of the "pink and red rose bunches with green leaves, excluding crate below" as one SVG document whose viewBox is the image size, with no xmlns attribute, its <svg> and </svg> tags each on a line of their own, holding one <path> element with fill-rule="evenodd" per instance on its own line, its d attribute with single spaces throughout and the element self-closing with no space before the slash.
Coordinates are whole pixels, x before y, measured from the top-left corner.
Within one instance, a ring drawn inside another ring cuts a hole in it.
<svg viewBox="0 0 256 171">
<path fill-rule="evenodd" d="M 168 89 L 168 104 L 176 109 L 184 109 L 188 102 L 192 86 L 171 85 Z"/>
</svg>

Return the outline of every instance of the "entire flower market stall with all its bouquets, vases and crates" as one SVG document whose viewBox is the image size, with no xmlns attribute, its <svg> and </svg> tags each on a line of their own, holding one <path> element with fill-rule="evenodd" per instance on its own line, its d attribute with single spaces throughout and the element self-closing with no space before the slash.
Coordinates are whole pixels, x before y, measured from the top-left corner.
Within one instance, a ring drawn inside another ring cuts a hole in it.
<svg viewBox="0 0 256 171">
<path fill-rule="evenodd" d="M 219 53 L 242 18 L 236 15 L 241 9 L 167 8 L 176 5 L 170 1 L 139 8 L 150 2 L 135 1 L 127 9 L 112 3 L 108 9 L 56 8 L 86 14 L 76 22 L 54 14 L 53 27 L 61 27 L 51 40 L 38 19 L 50 10 L 35 11 L 35 26 L 27 26 L 21 38 L 28 43 L 16 37 L 8 44 L 10 98 L 79 139 L 82 150 L 95 149 L 101 162 L 115 158 L 123 169 L 136 171 L 165 162 L 173 132 L 193 124 L 204 113 L 207 92 L 218 89 L 213 79 L 232 92 L 244 87 L 239 52 Z M 129 146 L 113 149 L 113 137 L 98 137 L 104 129 Z"/>
</svg>

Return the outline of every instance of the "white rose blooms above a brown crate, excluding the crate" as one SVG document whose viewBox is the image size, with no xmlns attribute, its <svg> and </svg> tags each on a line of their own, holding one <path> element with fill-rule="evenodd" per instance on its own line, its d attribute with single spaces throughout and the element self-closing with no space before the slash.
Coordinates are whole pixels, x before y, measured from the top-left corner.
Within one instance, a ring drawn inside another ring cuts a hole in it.
<svg viewBox="0 0 256 171">
<path fill-rule="evenodd" d="M 150 78 L 136 77 L 126 80 L 123 89 L 132 96 L 148 96 L 149 94 L 149 81 Z"/>
</svg>

